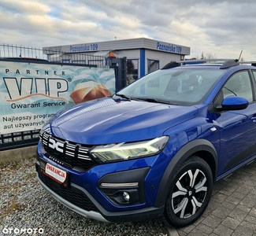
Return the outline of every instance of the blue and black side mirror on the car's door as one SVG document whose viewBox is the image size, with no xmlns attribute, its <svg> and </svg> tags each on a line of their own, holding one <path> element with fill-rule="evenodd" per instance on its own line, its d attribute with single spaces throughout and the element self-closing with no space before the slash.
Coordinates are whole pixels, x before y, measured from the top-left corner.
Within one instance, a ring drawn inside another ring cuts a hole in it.
<svg viewBox="0 0 256 236">
<path fill-rule="evenodd" d="M 218 111 L 235 111 L 246 109 L 249 105 L 249 101 L 246 98 L 239 96 L 230 96 L 224 98 L 221 105 L 217 106 Z"/>
</svg>

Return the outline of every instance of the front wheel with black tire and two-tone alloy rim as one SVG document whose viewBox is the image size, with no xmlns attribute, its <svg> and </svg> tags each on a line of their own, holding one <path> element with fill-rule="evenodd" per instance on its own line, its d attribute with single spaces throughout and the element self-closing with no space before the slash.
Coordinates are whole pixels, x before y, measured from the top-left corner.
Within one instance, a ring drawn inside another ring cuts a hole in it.
<svg viewBox="0 0 256 236">
<path fill-rule="evenodd" d="M 173 227 L 185 227 L 206 210 L 213 190 L 213 173 L 205 160 L 191 156 L 181 164 L 169 184 L 165 220 Z"/>
</svg>

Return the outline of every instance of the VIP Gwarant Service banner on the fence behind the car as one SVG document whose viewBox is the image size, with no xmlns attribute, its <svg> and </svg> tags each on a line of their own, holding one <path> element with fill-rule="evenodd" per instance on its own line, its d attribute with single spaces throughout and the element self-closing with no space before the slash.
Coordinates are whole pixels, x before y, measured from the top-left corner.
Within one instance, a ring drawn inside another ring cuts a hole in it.
<svg viewBox="0 0 256 236">
<path fill-rule="evenodd" d="M 0 135 L 40 129 L 58 110 L 116 90 L 113 69 L 0 61 Z"/>
</svg>

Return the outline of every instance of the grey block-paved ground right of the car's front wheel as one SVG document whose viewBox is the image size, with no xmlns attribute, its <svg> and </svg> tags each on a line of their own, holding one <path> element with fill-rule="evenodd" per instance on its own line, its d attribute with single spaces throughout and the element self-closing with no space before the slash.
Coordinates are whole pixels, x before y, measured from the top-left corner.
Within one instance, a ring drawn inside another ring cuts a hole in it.
<svg viewBox="0 0 256 236">
<path fill-rule="evenodd" d="M 256 161 L 217 182 L 201 219 L 169 235 L 256 236 Z"/>
</svg>

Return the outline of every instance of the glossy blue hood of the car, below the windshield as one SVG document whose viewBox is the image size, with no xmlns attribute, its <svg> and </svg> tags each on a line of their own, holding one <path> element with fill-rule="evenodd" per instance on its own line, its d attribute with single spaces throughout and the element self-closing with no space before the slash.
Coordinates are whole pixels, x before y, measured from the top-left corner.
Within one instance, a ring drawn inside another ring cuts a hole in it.
<svg viewBox="0 0 256 236">
<path fill-rule="evenodd" d="M 98 145 L 160 137 L 196 114 L 193 106 L 103 98 L 63 109 L 47 126 L 59 138 Z"/>
</svg>

